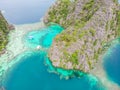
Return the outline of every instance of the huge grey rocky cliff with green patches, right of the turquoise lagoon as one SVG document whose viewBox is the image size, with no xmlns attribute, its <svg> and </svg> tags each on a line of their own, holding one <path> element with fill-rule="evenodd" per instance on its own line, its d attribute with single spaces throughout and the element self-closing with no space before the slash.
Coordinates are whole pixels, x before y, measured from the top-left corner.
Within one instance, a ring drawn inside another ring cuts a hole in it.
<svg viewBox="0 0 120 90">
<path fill-rule="evenodd" d="M 65 28 L 50 48 L 52 64 L 89 72 L 98 62 L 103 46 L 119 35 L 120 12 L 117 0 L 58 0 L 44 22 Z"/>
</svg>

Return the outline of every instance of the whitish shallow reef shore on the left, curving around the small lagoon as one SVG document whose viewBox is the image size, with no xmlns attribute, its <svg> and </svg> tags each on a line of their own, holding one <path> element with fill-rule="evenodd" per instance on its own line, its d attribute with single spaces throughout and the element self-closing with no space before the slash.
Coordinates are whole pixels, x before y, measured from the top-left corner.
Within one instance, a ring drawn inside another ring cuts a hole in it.
<svg viewBox="0 0 120 90">
<path fill-rule="evenodd" d="M 0 83 L 4 73 L 12 65 L 16 63 L 14 58 L 20 53 L 29 50 L 22 41 L 25 34 L 30 31 L 34 31 L 40 28 L 44 28 L 45 24 L 43 22 L 37 22 L 32 24 L 14 25 L 15 30 L 9 33 L 9 42 L 6 46 L 6 51 L 0 56 Z"/>
</svg>

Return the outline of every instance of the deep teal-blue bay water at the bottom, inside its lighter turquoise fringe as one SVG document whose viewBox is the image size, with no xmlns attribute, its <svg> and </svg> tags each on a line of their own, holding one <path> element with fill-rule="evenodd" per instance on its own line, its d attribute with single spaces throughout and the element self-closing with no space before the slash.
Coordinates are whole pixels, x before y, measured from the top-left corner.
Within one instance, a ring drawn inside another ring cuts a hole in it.
<svg viewBox="0 0 120 90">
<path fill-rule="evenodd" d="M 101 90 L 99 84 L 91 86 L 85 77 L 60 80 L 57 74 L 47 71 L 44 58 L 43 52 L 21 58 L 23 61 L 14 67 L 7 78 L 6 90 Z"/>
</svg>

